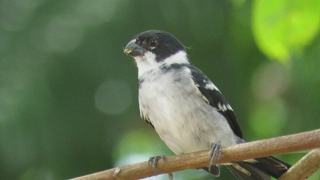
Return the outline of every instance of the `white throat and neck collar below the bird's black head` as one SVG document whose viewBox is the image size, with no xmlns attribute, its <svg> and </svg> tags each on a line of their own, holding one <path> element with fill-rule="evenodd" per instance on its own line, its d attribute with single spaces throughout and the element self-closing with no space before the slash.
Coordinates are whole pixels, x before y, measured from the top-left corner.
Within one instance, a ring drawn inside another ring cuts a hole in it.
<svg viewBox="0 0 320 180">
<path fill-rule="evenodd" d="M 152 52 L 145 52 L 143 56 L 134 57 L 136 66 L 138 67 L 139 79 L 144 73 L 157 70 L 163 65 L 170 66 L 171 64 L 190 64 L 187 54 L 183 50 L 178 51 L 161 62 L 157 62 L 155 58 L 155 54 Z"/>
</svg>

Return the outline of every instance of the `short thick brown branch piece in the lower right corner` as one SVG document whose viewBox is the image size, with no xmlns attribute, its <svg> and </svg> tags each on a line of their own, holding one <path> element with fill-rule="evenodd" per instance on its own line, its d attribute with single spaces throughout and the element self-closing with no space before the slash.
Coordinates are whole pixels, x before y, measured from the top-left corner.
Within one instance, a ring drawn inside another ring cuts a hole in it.
<svg viewBox="0 0 320 180">
<path fill-rule="evenodd" d="M 300 180 L 307 179 L 320 168 L 320 149 L 313 149 L 298 162 L 296 162 L 287 172 L 281 175 L 278 180 Z"/>
</svg>

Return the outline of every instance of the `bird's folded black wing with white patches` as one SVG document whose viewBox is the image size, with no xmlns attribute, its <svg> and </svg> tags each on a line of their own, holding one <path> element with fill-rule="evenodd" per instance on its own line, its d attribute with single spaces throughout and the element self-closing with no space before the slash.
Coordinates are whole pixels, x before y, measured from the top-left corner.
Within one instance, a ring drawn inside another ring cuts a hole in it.
<svg viewBox="0 0 320 180">
<path fill-rule="evenodd" d="M 231 106 L 227 103 L 221 92 L 213 85 L 211 80 L 199 69 L 189 66 L 195 85 L 204 96 L 203 99 L 215 107 L 228 121 L 233 132 L 242 138 L 242 132 L 237 123 Z"/>
</svg>

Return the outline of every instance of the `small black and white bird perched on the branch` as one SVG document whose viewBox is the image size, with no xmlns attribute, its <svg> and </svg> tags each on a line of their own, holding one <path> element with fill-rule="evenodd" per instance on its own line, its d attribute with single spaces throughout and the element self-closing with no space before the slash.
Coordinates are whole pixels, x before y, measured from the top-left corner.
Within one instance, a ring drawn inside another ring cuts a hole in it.
<svg viewBox="0 0 320 180">
<path fill-rule="evenodd" d="M 138 68 L 141 117 L 175 153 L 212 150 L 242 143 L 242 132 L 231 106 L 212 81 L 189 60 L 184 45 L 172 34 L 148 30 L 124 48 Z M 223 164 L 238 178 L 278 178 L 290 165 L 275 157 Z M 203 167 L 214 176 L 218 166 Z"/>
</svg>

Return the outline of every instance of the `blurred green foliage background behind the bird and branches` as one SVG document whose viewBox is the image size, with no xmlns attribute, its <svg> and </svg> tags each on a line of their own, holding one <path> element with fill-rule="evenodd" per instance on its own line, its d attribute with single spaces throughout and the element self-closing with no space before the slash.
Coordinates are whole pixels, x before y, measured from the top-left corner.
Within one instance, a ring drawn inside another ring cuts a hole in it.
<svg viewBox="0 0 320 180">
<path fill-rule="evenodd" d="M 175 35 L 247 141 L 320 127 L 320 0 L 1 0 L 0 179 L 67 179 L 173 153 L 140 117 L 137 33 Z M 278 155 L 295 163 L 306 152 Z M 214 179 L 198 170 L 174 179 Z M 319 179 L 317 171 L 310 179 Z M 148 179 L 167 179 L 158 175 Z M 216 179 L 236 179 L 222 167 Z"/>
</svg>

